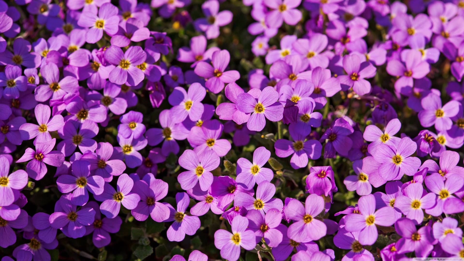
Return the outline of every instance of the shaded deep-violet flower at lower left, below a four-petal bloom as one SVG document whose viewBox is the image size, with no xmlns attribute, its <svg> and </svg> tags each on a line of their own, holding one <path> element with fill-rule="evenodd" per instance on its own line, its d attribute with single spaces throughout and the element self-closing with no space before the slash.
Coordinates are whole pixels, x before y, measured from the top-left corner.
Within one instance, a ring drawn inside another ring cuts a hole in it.
<svg viewBox="0 0 464 261">
<path fill-rule="evenodd" d="M 77 210 L 76 205 L 71 203 L 71 193 L 64 194 L 55 204 L 55 212 L 50 215 L 52 228 L 61 228 L 64 235 L 78 238 L 85 234 L 85 226 L 93 223 L 95 210 L 82 208 Z"/>
</svg>

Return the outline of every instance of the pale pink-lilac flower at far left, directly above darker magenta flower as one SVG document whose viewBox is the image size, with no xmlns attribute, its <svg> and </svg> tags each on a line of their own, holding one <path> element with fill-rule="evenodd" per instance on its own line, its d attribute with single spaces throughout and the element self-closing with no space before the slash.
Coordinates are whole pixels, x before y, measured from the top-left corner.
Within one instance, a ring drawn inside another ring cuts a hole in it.
<svg viewBox="0 0 464 261">
<path fill-rule="evenodd" d="M 38 124 L 25 123 L 19 127 L 21 139 L 29 140 L 34 137 L 34 144 L 47 142 L 52 139 L 50 131 L 57 131 L 64 125 L 64 119 L 61 115 L 55 115 L 50 119 L 50 107 L 45 104 L 37 104 L 34 109 L 35 117 Z"/>
</svg>

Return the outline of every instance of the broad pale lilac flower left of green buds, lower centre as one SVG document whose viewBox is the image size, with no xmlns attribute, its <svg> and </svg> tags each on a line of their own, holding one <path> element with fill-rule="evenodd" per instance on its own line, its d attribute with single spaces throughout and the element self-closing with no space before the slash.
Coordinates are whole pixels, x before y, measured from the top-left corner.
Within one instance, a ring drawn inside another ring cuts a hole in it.
<svg viewBox="0 0 464 261">
<path fill-rule="evenodd" d="M 187 170 L 177 176 L 180 187 L 188 190 L 200 183 L 201 190 L 207 191 L 213 183 L 213 174 L 210 171 L 216 169 L 219 163 L 218 155 L 212 150 L 206 150 L 201 154 L 185 150 L 179 157 L 180 166 Z"/>
</svg>

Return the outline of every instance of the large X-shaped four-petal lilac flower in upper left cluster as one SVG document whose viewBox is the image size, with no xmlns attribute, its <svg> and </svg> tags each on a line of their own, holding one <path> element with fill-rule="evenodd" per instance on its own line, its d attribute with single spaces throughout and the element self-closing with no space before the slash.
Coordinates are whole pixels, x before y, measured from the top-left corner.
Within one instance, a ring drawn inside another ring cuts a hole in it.
<svg viewBox="0 0 464 261">
<path fill-rule="evenodd" d="M 135 86 L 145 78 L 138 65 L 145 62 L 147 53 L 140 46 L 130 46 L 125 53 L 117 46 L 110 46 L 105 50 L 105 59 L 116 66 L 109 74 L 112 83 L 122 85 L 127 82 Z"/>
</svg>

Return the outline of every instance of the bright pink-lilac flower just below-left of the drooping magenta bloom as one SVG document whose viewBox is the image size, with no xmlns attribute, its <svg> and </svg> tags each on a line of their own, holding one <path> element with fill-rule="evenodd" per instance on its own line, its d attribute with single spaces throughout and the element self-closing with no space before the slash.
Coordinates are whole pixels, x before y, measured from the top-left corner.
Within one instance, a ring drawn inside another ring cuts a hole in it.
<svg viewBox="0 0 464 261">
<path fill-rule="evenodd" d="M 299 200 L 290 200 L 285 206 L 284 213 L 294 222 L 290 225 L 287 235 L 298 242 L 322 238 L 327 233 L 327 226 L 315 218 L 322 210 L 324 210 L 324 199 L 316 194 L 310 194 L 304 206 Z"/>
</svg>

